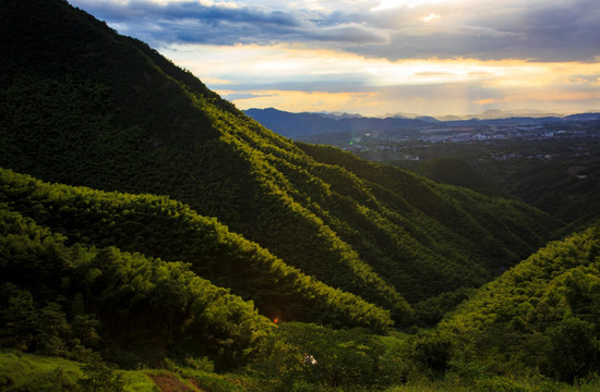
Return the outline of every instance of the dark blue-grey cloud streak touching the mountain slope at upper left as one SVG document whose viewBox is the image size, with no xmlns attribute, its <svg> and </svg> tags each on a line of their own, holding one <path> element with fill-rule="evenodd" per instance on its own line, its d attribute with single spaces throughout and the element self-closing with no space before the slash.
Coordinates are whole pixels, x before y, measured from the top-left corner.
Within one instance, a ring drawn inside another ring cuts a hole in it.
<svg viewBox="0 0 600 392">
<path fill-rule="evenodd" d="M 382 44 L 388 35 L 360 22 L 336 20 L 311 10 L 268 9 L 220 2 L 73 0 L 109 24 L 155 45 L 273 42 Z"/>
</svg>

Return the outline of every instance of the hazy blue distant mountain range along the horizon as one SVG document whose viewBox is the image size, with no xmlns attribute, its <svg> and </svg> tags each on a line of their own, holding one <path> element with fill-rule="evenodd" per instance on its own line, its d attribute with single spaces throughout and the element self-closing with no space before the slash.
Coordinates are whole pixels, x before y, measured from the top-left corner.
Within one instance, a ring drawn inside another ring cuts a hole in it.
<svg viewBox="0 0 600 392">
<path fill-rule="evenodd" d="M 408 114 L 391 114 L 385 118 L 368 118 L 348 113 L 292 113 L 274 108 L 248 109 L 244 113 L 279 135 L 291 138 L 348 131 L 410 131 L 432 126 L 453 127 L 506 123 L 542 124 L 560 121 L 600 120 L 600 113 L 580 113 L 565 117 L 561 117 L 559 114 L 543 115 L 541 113 L 527 113 L 527 115 L 524 115 L 523 113 L 503 112 L 501 110 L 490 110 L 471 119 L 461 119 L 458 117 L 444 117 L 442 119 L 435 119 L 433 117 L 405 117 Z"/>
</svg>

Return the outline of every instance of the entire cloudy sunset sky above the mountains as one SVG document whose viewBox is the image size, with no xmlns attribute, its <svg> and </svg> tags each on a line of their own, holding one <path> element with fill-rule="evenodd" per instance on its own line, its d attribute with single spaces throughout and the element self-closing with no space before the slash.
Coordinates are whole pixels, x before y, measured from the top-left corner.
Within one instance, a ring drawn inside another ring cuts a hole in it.
<svg viewBox="0 0 600 392">
<path fill-rule="evenodd" d="M 239 109 L 600 111 L 598 0 L 69 0 Z"/>
</svg>

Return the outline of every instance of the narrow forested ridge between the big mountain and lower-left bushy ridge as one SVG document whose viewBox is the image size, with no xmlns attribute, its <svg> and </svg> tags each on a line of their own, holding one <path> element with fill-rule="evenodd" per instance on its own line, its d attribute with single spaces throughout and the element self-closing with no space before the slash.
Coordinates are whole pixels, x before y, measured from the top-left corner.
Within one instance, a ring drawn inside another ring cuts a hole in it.
<svg viewBox="0 0 600 392">
<path fill-rule="evenodd" d="M 376 331 L 392 323 L 387 311 L 304 275 L 168 197 L 51 185 L 0 169 L 0 198 L 11 211 L 64 235 L 67 244 L 117 246 L 188 262 L 194 273 L 253 299 L 273 319 Z"/>
</svg>

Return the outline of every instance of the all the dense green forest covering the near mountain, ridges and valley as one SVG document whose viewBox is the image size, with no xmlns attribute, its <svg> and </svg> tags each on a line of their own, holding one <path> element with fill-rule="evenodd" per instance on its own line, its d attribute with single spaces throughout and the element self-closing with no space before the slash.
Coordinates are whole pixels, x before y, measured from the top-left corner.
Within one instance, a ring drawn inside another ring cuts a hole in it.
<svg viewBox="0 0 600 392">
<path fill-rule="evenodd" d="M 538 252 L 563 218 L 483 179 L 293 143 L 63 0 L 0 20 L 0 390 L 598 387 L 598 229 Z"/>
</svg>

